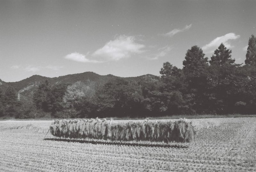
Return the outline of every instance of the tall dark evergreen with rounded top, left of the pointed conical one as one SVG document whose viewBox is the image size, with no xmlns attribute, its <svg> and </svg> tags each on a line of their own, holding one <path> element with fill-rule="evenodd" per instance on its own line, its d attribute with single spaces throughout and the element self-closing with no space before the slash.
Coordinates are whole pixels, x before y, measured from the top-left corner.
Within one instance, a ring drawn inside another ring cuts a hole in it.
<svg viewBox="0 0 256 172">
<path fill-rule="evenodd" d="M 188 83 L 187 91 L 184 92 L 187 113 L 200 113 L 204 111 L 207 104 L 206 88 L 208 75 L 208 58 L 204 58 L 203 50 L 197 46 L 191 47 L 186 53 L 183 61 L 183 70 Z"/>
</svg>

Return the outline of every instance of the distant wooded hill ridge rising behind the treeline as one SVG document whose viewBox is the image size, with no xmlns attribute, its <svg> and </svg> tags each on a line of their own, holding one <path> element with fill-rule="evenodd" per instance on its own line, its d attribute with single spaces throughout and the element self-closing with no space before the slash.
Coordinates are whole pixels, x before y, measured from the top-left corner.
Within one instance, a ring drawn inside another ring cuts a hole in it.
<svg viewBox="0 0 256 172">
<path fill-rule="evenodd" d="M 152 78 L 159 78 L 158 76 L 147 74 L 148 76 L 151 76 Z M 140 81 L 143 77 L 142 76 L 136 76 L 136 77 L 124 77 L 125 80 L 129 81 Z M 44 82 L 46 79 L 50 82 L 51 85 L 56 85 L 60 83 L 66 83 L 66 84 L 73 84 L 75 82 L 81 81 L 81 82 L 94 82 L 94 86 L 97 86 L 97 84 L 100 83 L 106 83 L 110 79 L 118 78 L 118 76 L 114 75 L 99 75 L 94 72 L 84 72 L 80 74 L 70 74 L 70 75 L 64 75 L 59 77 L 45 77 L 40 75 L 33 75 L 26 79 L 23 79 L 18 82 L 4 82 L 0 79 L 0 88 L 5 90 L 8 86 L 12 86 L 17 92 L 20 92 L 20 96 L 22 99 L 31 100 L 34 91 L 37 89 L 40 82 Z"/>
</svg>

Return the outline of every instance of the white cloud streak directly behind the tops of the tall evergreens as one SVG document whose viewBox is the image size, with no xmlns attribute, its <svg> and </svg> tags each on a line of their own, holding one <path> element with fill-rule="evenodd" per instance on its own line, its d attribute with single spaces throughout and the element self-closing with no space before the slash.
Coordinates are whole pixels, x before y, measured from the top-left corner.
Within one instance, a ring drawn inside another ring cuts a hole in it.
<svg viewBox="0 0 256 172">
<path fill-rule="evenodd" d="M 236 35 L 235 33 L 227 33 L 224 36 L 213 39 L 209 44 L 204 45 L 202 50 L 204 50 L 206 53 L 212 53 L 220 46 L 221 43 L 223 43 L 227 48 L 232 48 L 233 46 L 230 45 L 229 40 L 238 38 L 240 38 L 240 35 Z"/>
</svg>

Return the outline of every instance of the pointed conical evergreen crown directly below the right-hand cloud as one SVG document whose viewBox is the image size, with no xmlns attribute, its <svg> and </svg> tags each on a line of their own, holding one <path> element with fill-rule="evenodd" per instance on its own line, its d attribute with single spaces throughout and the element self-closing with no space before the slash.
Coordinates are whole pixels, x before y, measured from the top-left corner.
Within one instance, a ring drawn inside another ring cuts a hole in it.
<svg viewBox="0 0 256 172">
<path fill-rule="evenodd" d="M 221 66 L 224 64 L 233 64 L 235 63 L 235 59 L 231 59 L 232 51 L 227 49 L 224 44 L 220 44 L 218 49 L 214 51 L 214 55 L 212 55 L 211 60 L 209 61 L 211 65 Z"/>
</svg>

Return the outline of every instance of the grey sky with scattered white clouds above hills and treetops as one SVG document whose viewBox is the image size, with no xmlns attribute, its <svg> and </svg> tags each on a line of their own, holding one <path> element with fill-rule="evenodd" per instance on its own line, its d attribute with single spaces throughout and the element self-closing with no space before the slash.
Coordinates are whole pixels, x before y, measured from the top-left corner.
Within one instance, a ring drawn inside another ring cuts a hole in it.
<svg viewBox="0 0 256 172">
<path fill-rule="evenodd" d="M 92 71 L 121 77 L 183 68 L 223 43 L 244 63 L 256 35 L 255 0 L 0 0 L 0 79 Z"/>
</svg>

